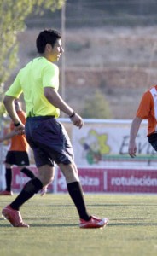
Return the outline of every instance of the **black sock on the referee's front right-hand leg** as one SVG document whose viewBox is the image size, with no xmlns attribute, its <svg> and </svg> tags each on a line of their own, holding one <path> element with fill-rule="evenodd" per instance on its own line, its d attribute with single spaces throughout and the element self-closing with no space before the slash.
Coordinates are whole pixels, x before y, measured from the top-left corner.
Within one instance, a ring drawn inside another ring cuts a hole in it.
<svg viewBox="0 0 157 256">
<path fill-rule="evenodd" d="M 84 202 L 83 190 L 80 183 L 79 182 L 68 183 L 67 189 L 75 206 L 77 207 L 79 218 L 83 218 L 84 220 L 90 220 L 91 216 L 87 212 L 85 202 Z"/>
</svg>

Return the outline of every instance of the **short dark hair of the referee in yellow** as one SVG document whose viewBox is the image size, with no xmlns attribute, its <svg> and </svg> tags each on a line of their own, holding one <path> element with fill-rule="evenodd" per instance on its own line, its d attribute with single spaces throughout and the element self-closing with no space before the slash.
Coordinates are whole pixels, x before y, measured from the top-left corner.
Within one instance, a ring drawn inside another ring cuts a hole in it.
<svg viewBox="0 0 157 256">
<path fill-rule="evenodd" d="M 51 44 L 54 47 L 57 39 L 61 39 L 61 34 L 52 29 L 45 29 L 40 32 L 36 40 L 38 53 L 44 53 L 46 44 Z"/>
</svg>

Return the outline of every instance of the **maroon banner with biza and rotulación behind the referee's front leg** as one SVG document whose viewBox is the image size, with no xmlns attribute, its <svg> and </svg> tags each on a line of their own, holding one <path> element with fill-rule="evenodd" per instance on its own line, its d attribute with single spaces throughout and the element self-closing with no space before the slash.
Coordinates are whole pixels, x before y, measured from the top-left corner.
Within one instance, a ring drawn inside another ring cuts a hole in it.
<svg viewBox="0 0 157 256">
<path fill-rule="evenodd" d="M 157 170 L 126 168 L 78 168 L 84 192 L 157 193 Z M 67 192 L 65 178 L 58 170 L 57 192 Z"/>
</svg>

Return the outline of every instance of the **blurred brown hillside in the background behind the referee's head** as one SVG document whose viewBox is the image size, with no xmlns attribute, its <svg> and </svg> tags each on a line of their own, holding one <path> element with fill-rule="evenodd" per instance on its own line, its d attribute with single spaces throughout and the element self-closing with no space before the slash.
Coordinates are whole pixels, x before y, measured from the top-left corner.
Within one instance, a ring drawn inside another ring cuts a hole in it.
<svg viewBox="0 0 157 256">
<path fill-rule="evenodd" d="M 154 0 L 67 0 L 64 10 L 26 19 L 19 67 L 36 55 L 39 30 L 59 29 L 65 43 L 62 96 L 85 118 L 132 119 L 142 93 L 157 81 L 156 14 Z M 101 99 L 101 116 L 90 114 L 87 102 L 100 106 Z"/>
</svg>

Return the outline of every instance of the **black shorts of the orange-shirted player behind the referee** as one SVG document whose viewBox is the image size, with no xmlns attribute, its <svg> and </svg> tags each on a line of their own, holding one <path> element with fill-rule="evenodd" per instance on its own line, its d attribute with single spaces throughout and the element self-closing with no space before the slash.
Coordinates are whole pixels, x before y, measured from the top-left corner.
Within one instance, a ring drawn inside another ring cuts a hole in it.
<svg viewBox="0 0 157 256">
<path fill-rule="evenodd" d="M 8 151 L 5 163 L 15 166 L 29 166 L 29 158 L 26 151 Z"/>
</svg>

